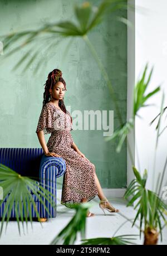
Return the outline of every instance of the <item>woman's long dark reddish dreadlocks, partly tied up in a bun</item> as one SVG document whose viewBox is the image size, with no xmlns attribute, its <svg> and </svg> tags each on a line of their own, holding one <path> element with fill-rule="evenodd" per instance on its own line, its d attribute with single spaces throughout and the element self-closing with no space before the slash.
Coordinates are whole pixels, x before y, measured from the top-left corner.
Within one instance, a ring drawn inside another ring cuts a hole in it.
<svg viewBox="0 0 167 256">
<path fill-rule="evenodd" d="M 46 103 L 48 103 L 51 99 L 51 94 L 50 94 L 50 89 L 53 89 L 53 86 L 58 82 L 62 82 L 63 85 L 65 86 L 65 90 L 66 89 L 66 82 L 65 80 L 62 78 L 62 71 L 60 69 L 53 69 L 53 71 L 51 71 L 48 76 L 47 76 L 47 80 L 45 85 L 45 91 L 43 93 L 43 107 L 45 106 Z M 68 115 L 70 115 L 70 113 L 66 110 L 65 104 L 62 100 L 58 100 L 58 106 L 61 108 L 61 110 L 65 113 L 67 113 Z M 71 117 L 71 115 L 70 115 Z M 71 118 L 71 123 L 72 123 L 72 118 Z"/>
</svg>

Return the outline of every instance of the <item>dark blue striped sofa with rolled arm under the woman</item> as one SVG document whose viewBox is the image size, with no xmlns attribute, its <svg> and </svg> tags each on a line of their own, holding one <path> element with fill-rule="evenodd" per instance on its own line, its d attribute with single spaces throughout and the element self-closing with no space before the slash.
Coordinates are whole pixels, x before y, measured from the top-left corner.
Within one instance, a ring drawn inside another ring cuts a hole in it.
<svg viewBox="0 0 167 256">
<path fill-rule="evenodd" d="M 56 179 L 62 176 L 66 171 L 66 162 L 63 158 L 47 157 L 43 153 L 42 148 L 0 148 L 0 163 L 8 166 L 22 176 L 34 178 L 37 184 L 39 184 L 40 181 L 42 186 L 54 195 L 53 200 L 55 202 L 55 207 L 52 207 L 50 202 L 45 200 L 45 205 L 48 207 L 50 212 L 49 215 L 38 197 L 31 191 L 32 197 L 35 200 L 36 209 L 38 210 L 40 218 L 56 217 Z M 38 186 L 37 189 L 39 189 Z M 3 203 L 0 206 L 0 218 L 2 218 L 4 206 L 7 203 L 7 197 L 3 200 Z M 37 218 L 32 204 L 31 209 L 32 218 Z M 27 215 L 29 216 L 28 211 Z M 16 218 L 14 206 L 11 212 L 11 218 Z"/>
</svg>

